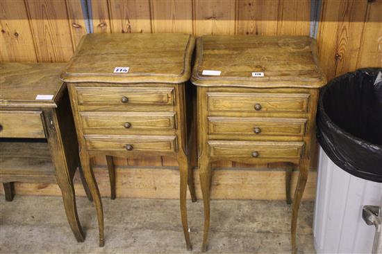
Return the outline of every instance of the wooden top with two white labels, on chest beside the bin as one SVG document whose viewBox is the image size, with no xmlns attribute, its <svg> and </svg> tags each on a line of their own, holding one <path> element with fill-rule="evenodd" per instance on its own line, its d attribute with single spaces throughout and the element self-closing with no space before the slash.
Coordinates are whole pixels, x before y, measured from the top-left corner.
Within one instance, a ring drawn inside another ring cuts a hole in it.
<svg viewBox="0 0 382 254">
<path fill-rule="evenodd" d="M 221 73 L 206 75 L 205 70 Z M 263 77 L 256 76 L 261 73 Z M 205 87 L 319 88 L 326 84 L 315 39 L 306 36 L 199 37 L 191 81 Z"/>
</svg>

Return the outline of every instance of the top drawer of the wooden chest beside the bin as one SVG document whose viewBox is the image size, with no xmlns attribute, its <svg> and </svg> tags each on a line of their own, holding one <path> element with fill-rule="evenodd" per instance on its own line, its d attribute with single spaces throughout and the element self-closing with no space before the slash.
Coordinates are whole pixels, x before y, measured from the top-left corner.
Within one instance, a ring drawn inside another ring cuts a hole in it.
<svg viewBox="0 0 382 254">
<path fill-rule="evenodd" d="M 308 93 L 207 93 L 209 111 L 308 111 Z M 257 108 L 257 109 L 256 109 Z"/>
</svg>

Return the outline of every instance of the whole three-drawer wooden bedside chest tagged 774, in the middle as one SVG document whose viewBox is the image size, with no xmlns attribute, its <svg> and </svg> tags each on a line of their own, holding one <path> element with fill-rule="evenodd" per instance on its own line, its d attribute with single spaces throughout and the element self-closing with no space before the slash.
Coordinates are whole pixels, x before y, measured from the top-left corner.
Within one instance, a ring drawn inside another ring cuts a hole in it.
<svg viewBox="0 0 382 254">
<path fill-rule="evenodd" d="M 106 155 L 115 195 L 111 156 L 174 156 L 181 174 L 181 217 L 191 248 L 186 212 L 187 183 L 196 201 L 188 158 L 185 89 L 194 38 L 182 34 L 88 34 L 62 74 L 67 82 L 80 144 L 80 158 L 99 219 L 103 212 L 90 158 Z M 188 86 L 190 87 L 190 85 Z"/>
</svg>

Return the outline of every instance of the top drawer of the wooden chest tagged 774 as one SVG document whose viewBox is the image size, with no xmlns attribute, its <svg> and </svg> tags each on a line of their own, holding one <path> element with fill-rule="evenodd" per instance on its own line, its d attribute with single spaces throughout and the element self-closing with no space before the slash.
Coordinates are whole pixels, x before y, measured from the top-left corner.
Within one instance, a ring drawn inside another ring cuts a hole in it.
<svg viewBox="0 0 382 254">
<path fill-rule="evenodd" d="M 175 105 L 174 88 L 76 87 L 78 105 Z"/>
</svg>

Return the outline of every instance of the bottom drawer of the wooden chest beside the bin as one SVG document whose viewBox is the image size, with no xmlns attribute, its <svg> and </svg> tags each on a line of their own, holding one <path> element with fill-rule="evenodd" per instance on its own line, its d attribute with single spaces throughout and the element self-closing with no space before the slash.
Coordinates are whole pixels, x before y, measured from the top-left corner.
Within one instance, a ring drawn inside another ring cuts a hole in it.
<svg viewBox="0 0 382 254">
<path fill-rule="evenodd" d="M 299 158 L 303 142 L 209 140 L 211 157 Z M 257 156 L 253 153 L 257 152 Z"/>
</svg>

